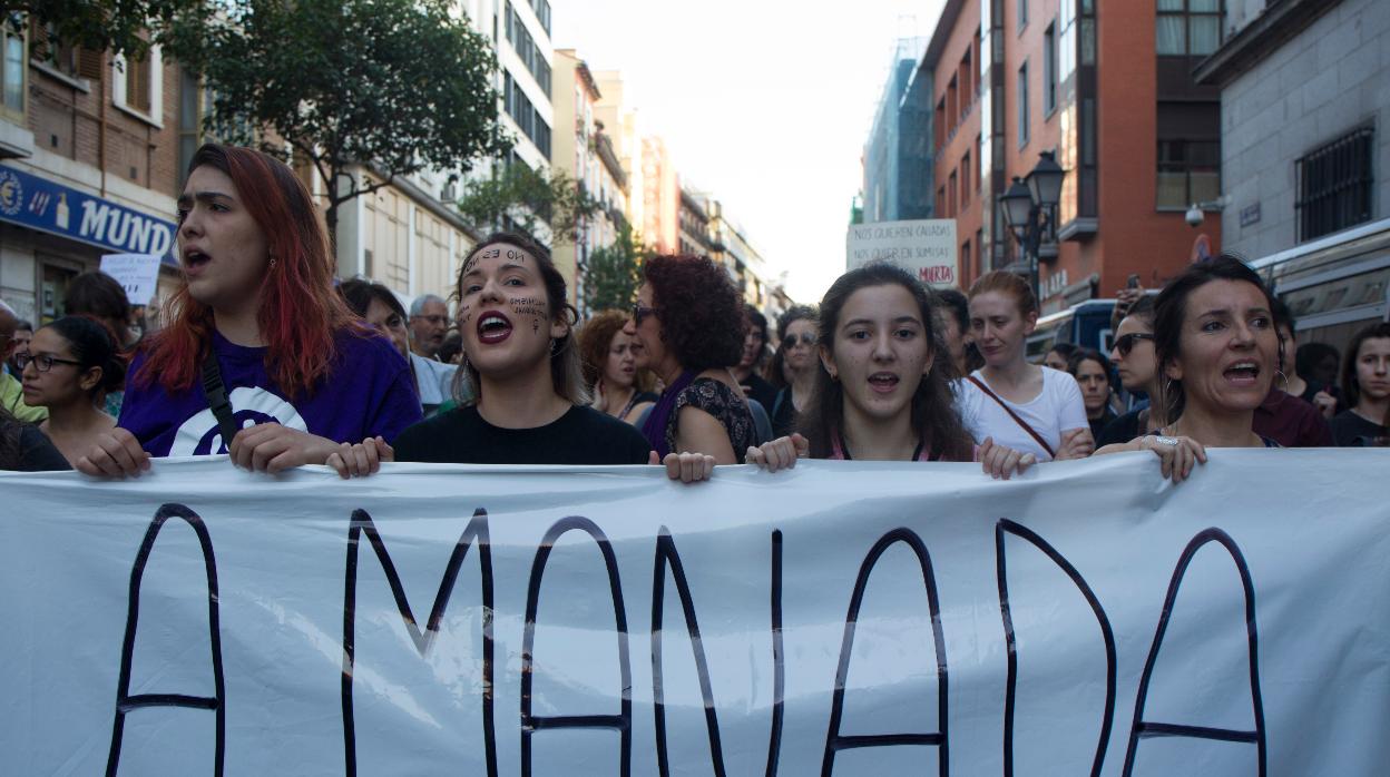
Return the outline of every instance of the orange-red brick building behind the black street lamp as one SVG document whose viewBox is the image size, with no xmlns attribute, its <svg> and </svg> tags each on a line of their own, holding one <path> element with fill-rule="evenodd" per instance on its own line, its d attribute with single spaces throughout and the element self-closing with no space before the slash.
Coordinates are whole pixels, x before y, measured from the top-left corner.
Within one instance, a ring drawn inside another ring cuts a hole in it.
<svg viewBox="0 0 1390 777">
<path fill-rule="evenodd" d="M 956 220 L 962 284 L 1033 277 L 999 197 L 1047 152 L 1066 171 L 1040 217 L 1045 313 L 1158 286 L 1186 265 L 1191 204 L 1219 196 L 1219 101 L 1193 68 L 1222 40 L 1216 0 L 947 0 L 931 74 L 934 211 Z M 866 217 L 867 220 L 867 217 Z M 1215 250 L 1220 225 L 1204 228 Z"/>
</svg>

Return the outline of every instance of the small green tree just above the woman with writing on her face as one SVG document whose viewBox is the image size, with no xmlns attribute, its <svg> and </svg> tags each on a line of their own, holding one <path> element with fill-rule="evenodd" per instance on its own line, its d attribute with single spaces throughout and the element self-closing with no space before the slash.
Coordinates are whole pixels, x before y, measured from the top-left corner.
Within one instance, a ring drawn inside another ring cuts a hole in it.
<svg viewBox="0 0 1390 777">
<path fill-rule="evenodd" d="M 539 172 L 521 163 L 500 167 L 492 178 L 468 181 L 457 204 L 478 232 L 509 227 L 545 240 L 539 234 L 545 227 L 545 242 L 552 245 L 577 242 L 584 222 L 602 207 L 564 171 Z"/>
</svg>

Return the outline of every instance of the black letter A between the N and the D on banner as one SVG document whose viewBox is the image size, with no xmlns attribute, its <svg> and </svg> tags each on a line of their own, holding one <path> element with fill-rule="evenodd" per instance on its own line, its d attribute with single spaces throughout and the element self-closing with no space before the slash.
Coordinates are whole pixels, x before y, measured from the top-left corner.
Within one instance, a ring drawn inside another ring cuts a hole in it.
<svg viewBox="0 0 1390 777">
<path fill-rule="evenodd" d="M 917 555 L 922 564 L 922 582 L 927 588 L 927 607 L 931 614 L 931 635 L 937 648 L 937 720 L 941 730 L 931 734 L 870 734 L 842 737 L 840 735 L 840 719 L 845 712 L 845 680 L 849 676 L 849 656 L 855 646 L 855 624 L 859 620 L 859 606 L 863 603 L 865 587 L 869 584 L 869 574 L 874 564 L 895 542 L 906 542 L 912 552 Z M 937 748 L 938 774 L 947 777 L 949 758 L 947 752 L 947 639 L 941 631 L 941 602 L 937 596 L 937 577 L 931 571 L 931 555 L 922 538 L 909 528 L 895 528 L 883 535 L 865 563 L 859 567 L 859 577 L 855 578 L 855 592 L 849 599 L 849 613 L 845 616 L 845 639 L 840 648 L 840 669 L 835 671 L 835 695 L 830 706 L 830 731 L 826 735 L 826 756 L 821 762 L 821 777 L 830 777 L 835 766 L 835 753 L 851 748 L 888 748 L 897 745 L 933 745 Z"/>
</svg>

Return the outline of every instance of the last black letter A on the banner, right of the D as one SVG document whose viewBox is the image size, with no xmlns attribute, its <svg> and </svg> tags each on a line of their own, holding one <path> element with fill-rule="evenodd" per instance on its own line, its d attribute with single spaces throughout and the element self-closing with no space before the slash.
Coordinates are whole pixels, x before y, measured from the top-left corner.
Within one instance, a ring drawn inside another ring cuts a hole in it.
<svg viewBox="0 0 1390 777">
<path fill-rule="evenodd" d="M 1236 562 L 1236 571 L 1240 573 L 1240 585 L 1245 594 L 1245 634 L 1250 641 L 1250 698 L 1254 702 L 1255 730 L 1234 731 L 1230 728 L 1205 728 L 1201 726 L 1183 726 L 1175 723 L 1148 723 L 1144 720 L 1144 701 L 1148 696 L 1148 681 L 1154 676 L 1154 663 L 1158 660 L 1158 651 L 1163 645 L 1163 632 L 1168 631 L 1168 620 L 1173 614 L 1173 602 L 1177 599 L 1177 589 L 1183 585 L 1183 575 L 1187 574 L 1187 564 L 1191 563 L 1197 550 L 1208 542 L 1219 542 Z M 1193 538 L 1177 559 L 1177 569 L 1173 570 L 1173 580 L 1168 585 L 1168 598 L 1163 599 L 1163 614 L 1158 619 L 1158 631 L 1154 634 L 1154 646 L 1148 652 L 1148 662 L 1144 663 L 1144 674 L 1138 681 L 1138 698 L 1134 701 L 1134 723 L 1130 728 L 1129 751 L 1125 753 L 1125 777 L 1134 771 L 1134 756 L 1138 751 L 1138 741 L 1150 737 L 1186 737 L 1191 739 L 1215 739 L 1219 742 L 1250 742 L 1255 745 L 1255 759 L 1258 774 L 1265 776 L 1265 705 L 1259 698 L 1259 635 L 1255 630 L 1255 584 L 1250 580 L 1250 567 L 1245 556 L 1241 555 L 1236 541 L 1219 528 L 1208 528 Z"/>
</svg>

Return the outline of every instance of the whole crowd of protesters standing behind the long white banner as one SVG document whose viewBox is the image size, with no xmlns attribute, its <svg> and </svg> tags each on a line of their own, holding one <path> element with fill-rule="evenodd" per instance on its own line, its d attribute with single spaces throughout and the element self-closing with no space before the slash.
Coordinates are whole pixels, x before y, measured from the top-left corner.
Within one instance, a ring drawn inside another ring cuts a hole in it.
<svg viewBox="0 0 1390 777">
<path fill-rule="evenodd" d="M 1209 448 L 1387 443 L 1390 324 L 1346 354 L 1298 345 L 1230 256 L 1122 292 L 1109 353 L 1058 343 L 1033 364 L 1037 299 L 1008 272 L 934 292 L 869 265 L 770 325 L 709 259 L 657 256 L 631 310 L 580 321 L 549 253 L 502 232 L 464 257 L 450 314 L 336 284 L 313 197 L 259 152 L 203 146 L 178 208 L 183 279 L 156 331 L 100 272 L 43 327 L 0 303 L 0 468 L 132 477 L 229 453 L 267 473 L 651 464 L 694 482 L 813 457 L 1008 478 L 1147 450 L 1182 481 Z"/>
</svg>

